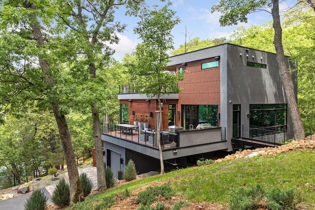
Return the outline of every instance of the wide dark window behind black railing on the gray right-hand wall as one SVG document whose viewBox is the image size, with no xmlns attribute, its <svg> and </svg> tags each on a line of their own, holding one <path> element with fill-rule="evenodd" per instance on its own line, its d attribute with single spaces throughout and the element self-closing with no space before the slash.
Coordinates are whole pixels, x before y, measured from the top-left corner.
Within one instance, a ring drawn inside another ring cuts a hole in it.
<svg viewBox="0 0 315 210">
<path fill-rule="evenodd" d="M 287 129 L 286 104 L 251 104 L 250 126 L 261 127 L 274 131 L 286 131 Z"/>
</svg>

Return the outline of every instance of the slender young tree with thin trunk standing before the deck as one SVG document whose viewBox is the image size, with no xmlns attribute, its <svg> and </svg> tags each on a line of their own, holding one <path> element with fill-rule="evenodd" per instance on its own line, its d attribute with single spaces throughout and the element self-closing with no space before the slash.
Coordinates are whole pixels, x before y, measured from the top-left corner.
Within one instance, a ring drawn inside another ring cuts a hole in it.
<svg viewBox="0 0 315 210">
<path fill-rule="evenodd" d="M 137 45 L 135 57 L 137 68 L 135 73 L 138 81 L 137 90 L 147 96 L 157 96 L 159 104 L 159 122 L 157 131 L 158 150 L 160 157 L 161 171 L 164 174 L 164 164 L 162 149 L 160 144 L 160 132 L 162 131 L 162 107 L 160 97 L 170 92 L 179 92 L 177 87 L 178 77 L 166 71 L 168 60 L 167 51 L 173 49 L 173 39 L 171 30 L 180 22 L 178 17 L 174 17 L 175 12 L 168 7 L 171 2 L 167 2 L 162 8 L 153 6 L 154 10 L 145 7 L 139 17 L 138 27 L 134 32 L 142 39 L 142 44 Z"/>
</svg>

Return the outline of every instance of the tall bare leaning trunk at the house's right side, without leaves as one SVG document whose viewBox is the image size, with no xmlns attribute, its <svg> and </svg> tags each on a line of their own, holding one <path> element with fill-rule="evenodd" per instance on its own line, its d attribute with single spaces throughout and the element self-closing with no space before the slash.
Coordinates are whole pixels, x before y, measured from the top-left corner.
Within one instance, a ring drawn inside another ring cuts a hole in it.
<svg viewBox="0 0 315 210">
<path fill-rule="evenodd" d="M 288 108 L 290 110 L 293 122 L 295 139 L 301 140 L 305 138 L 304 128 L 296 96 L 294 94 L 293 84 L 284 58 L 284 49 L 282 45 L 282 28 L 279 15 L 279 0 L 272 0 L 271 11 L 273 17 L 273 28 L 275 30 L 274 45 L 277 53 L 277 62 L 279 65 L 281 78 L 284 84 L 284 91 L 287 98 Z"/>
</svg>

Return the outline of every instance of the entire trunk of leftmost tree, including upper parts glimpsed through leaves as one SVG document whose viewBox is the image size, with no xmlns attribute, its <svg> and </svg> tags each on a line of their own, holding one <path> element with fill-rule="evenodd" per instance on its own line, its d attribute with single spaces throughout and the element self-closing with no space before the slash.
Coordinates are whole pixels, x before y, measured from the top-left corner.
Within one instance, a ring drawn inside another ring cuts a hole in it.
<svg viewBox="0 0 315 210">
<path fill-rule="evenodd" d="M 30 3 L 29 1 L 23 1 L 23 6 L 25 8 L 35 10 L 35 5 Z M 34 15 L 30 15 L 30 20 L 32 21 L 32 33 L 33 39 L 37 42 L 36 47 L 42 48 L 44 43 L 44 37 L 42 35 L 40 24 L 37 20 L 37 17 Z M 38 57 L 39 66 L 41 67 L 42 73 L 45 77 L 45 82 L 51 85 L 54 85 L 54 78 L 52 73 L 50 72 L 50 64 L 49 62 L 42 56 Z M 67 170 L 69 174 L 69 182 L 70 182 L 70 205 L 72 203 L 81 202 L 84 200 L 82 186 L 79 178 L 78 168 L 75 162 L 74 152 L 72 149 L 70 133 L 68 129 L 67 122 L 65 120 L 64 115 L 59 114 L 58 102 L 59 98 L 54 98 L 52 101 L 53 105 L 53 113 L 59 128 L 59 134 L 63 145 L 63 153 L 65 156 L 65 161 L 67 164 Z"/>
</svg>

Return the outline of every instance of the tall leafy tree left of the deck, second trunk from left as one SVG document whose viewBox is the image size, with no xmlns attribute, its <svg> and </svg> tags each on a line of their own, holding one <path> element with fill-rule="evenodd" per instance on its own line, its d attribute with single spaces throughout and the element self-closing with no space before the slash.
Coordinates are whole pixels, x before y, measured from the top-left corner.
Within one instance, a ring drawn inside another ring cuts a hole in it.
<svg viewBox="0 0 315 210">
<path fill-rule="evenodd" d="M 119 6 L 125 5 L 128 14 L 136 14 L 136 11 L 142 5 L 143 0 L 72 0 L 60 1 L 59 17 L 61 24 L 68 28 L 70 39 L 77 43 L 79 48 L 76 48 L 80 55 L 84 57 L 84 62 L 80 63 L 84 69 L 89 71 L 88 85 L 93 87 L 90 95 L 95 95 L 95 92 L 100 93 L 102 90 L 97 91 L 95 84 L 98 84 L 99 89 L 104 89 L 105 84 L 100 83 L 96 79 L 96 69 L 104 63 L 110 61 L 110 56 L 114 51 L 105 44 L 118 43 L 119 39 L 115 31 L 123 32 L 126 25 L 120 22 L 114 23 L 114 12 Z M 114 23 L 114 24 L 113 24 Z M 72 36 L 78 38 L 78 41 Z M 70 50 L 70 48 L 69 48 Z M 80 57 L 81 59 L 81 57 Z M 101 61 L 100 61 L 101 60 Z M 94 83 L 94 85 L 93 85 Z M 85 85 L 86 86 L 86 85 Z M 107 86 L 107 88 L 110 88 Z M 105 95 L 105 98 L 107 96 Z M 100 119 L 99 111 L 101 110 L 98 105 L 99 96 L 88 97 L 86 100 L 91 107 L 93 130 L 94 130 L 94 145 L 96 154 L 96 167 L 97 167 L 97 188 L 98 190 L 106 189 L 106 180 L 104 175 L 103 164 L 103 151 L 101 141 Z M 106 106 L 105 106 L 106 107 Z M 104 107 L 104 108 L 105 108 Z"/>
</svg>

